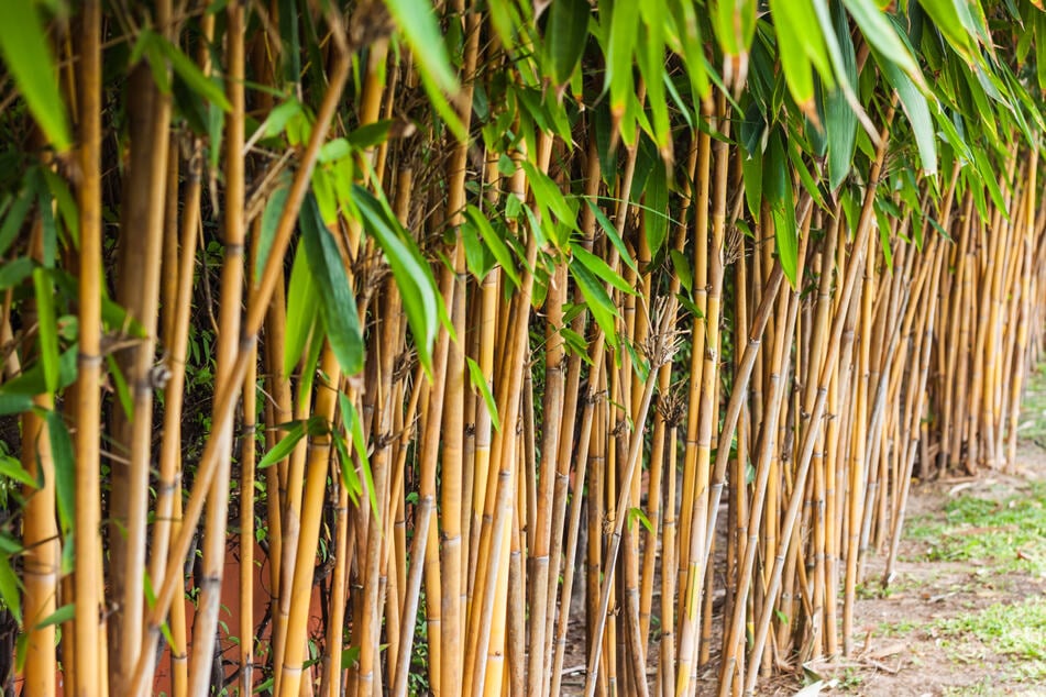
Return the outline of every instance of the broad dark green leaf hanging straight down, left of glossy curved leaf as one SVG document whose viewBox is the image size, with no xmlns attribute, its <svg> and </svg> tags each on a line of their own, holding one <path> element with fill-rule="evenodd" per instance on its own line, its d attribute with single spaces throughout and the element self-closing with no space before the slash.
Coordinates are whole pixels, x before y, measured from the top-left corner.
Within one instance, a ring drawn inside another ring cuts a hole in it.
<svg viewBox="0 0 1046 697">
<path fill-rule="evenodd" d="M 323 224 L 316 197 L 306 197 L 299 217 L 305 255 L 320 298 L 327 339 L 346 375 L 363 368 L 363 330 L 338 244 Z"/>
</svg>

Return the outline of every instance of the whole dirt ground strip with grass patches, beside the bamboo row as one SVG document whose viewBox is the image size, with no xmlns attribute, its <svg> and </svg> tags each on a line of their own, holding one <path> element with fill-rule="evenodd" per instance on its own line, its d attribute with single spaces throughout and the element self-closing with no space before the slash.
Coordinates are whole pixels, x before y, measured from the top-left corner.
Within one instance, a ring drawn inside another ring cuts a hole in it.
<svg viewBox="0 0 1046 697">
<path fill-rule="evenodd" d="M 912 494 L 896 575 L 857 606 L 854 657 L 768 693 L 1046 695 L 1046 451 L 1023 446 L 1013 474 Z"/>
</svg>

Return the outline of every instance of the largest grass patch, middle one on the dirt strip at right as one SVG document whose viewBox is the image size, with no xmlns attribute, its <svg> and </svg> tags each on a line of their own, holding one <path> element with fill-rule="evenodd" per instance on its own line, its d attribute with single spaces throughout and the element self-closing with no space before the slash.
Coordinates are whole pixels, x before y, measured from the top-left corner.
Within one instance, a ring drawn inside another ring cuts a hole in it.
<svg viewBox="0 0 1046 697">
<path fill-rule="evenodd" d="M 929 543 L 931 561 L 984 560 L 998 572 L 1046 574 L 1046 483 L 1000 500 L 960 496 L 944 520 L 914 521 L 909 538 Z"/>
</svg>

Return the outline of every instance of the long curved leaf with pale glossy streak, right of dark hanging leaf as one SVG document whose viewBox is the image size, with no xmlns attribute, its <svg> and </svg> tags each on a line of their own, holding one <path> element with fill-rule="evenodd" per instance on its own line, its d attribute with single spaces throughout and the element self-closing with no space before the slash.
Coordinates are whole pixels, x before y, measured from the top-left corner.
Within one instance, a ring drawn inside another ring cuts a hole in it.
<svg viewBox="0 0 1046 697">
<path fill-rule="evenodd" d="M 355 186 L 353 190 L 364 225 L 377 240 L 393 269 L 393 277 L 404 299 L 407 322 L 414 334 L 418 359 L 431 376 L 432 345 L 438 324 L 441 321 L 449 324 L 432 269 L 388 207 L 363 187 Z"/>
</svg>

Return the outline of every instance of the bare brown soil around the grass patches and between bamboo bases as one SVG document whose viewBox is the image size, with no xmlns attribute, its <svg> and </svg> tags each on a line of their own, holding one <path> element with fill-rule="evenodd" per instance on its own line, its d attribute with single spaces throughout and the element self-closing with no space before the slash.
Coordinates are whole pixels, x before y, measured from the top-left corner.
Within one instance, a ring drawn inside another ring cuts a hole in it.
<svg viewBox="0 0 1046 697">
<path fill-rule="evenodd" d="M 1031 482 L 1046 482 L 1046 449 L 1028 442 L 1022 445 L 1016 464 L 1008 473 L 913 483 L 907 520 L 924 525 L 942 523 L 945 506 L 958 496 L 1020 499 L 1027 495 Z M 906 523 L 906 529 L 911 524 Z M 1046 547 L 1046 540 L 1041 542 Z M 801 672 L 766 678 L 759 694 L 1046 697 L 1046 633 L 1041 637 L 1038 659 L 1032 659 L 1014 656 L 998 642 L 986 642 L 972 634 L 949 634 L 940 629 L 949 620 L 972 617 L 991 606 L 1020 605 L 1046 597 L 1046 572 L 1013 571 L 1013 564 L 1005 568 L 992 558 L 936 560 L 929 553 L 932 544 L 931 540 L 906 534 L 889 588 L 877 588 L 873 582 L 873 589 L 862 594 L 856 607 L 852 656 L 807 663 Z M 881 557 L 869 558 L 866 578 L 881 577 L 882 569 Z M 577 583 L 583 580 L 579 577 Z M 582 613 L 583 610 L 572 615 Z M 656 651 L 657 642 L 651 643 Z M 718 644 L 716 637 L 713 645 Z M 568 637 L 564 695 L 583 694 L 584 652 L 584 628 L 574 622 Z M 715 694 L 716 659 L 712 656 L 709 667 L 701 676 L 698 695 Z M 650 655 L 651 690 L 656 665 L 657 655 Z"/>
</svg>

